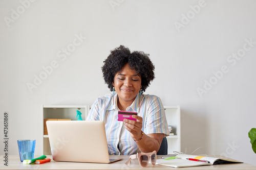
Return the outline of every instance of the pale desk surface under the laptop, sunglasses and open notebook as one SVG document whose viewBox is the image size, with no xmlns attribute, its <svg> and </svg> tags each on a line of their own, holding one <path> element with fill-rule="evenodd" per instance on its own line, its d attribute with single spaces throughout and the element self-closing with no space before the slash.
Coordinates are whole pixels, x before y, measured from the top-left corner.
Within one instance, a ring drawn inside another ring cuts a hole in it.
<svg viewBox="0 0 256 170">
<path fill-rule="evenodd" d="M 159 156 L 158 156 L 159 157 Z M 51 158 L 52 156 L 47 156 Z M 19 156 L 9 156 L 8 166 L 4 165 L 3 156 L 1 156 L 0 169 L 256 169 L 256 166 L 250 165 L 248 163 L 234 163 L 234 164 L 222 164 L 222 165 L 207 165 L 207 166 L 195 166 L 195 167 L 182 167 L 173 168 L 168 166 L 161 166 L 148 164 L 147 167 L 141 167 L 139 165 L 138 159 L 133 159 L 132 164 L 126 165 L 125 162 L 129 159 L 129 156 L 119 155 L 110 156 L 111 159 L 123 158 L 121 161 L 113 162 L 110 164 L 104 163 L 81 163 L 81 162 L 56 162 L 51 160 L 44 164 L 23 164 L 19 160 Z M 160 157 L 159 157 L 160 158 Z"/>
</svg>

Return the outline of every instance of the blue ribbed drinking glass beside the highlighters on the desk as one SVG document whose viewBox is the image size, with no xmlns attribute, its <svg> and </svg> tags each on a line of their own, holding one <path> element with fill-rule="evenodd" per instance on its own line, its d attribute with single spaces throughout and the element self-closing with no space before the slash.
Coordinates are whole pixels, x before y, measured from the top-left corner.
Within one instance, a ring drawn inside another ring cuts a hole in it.
<svg viewBox="0 0 256 170">
<path fill-rule="evenodd" d="M 20 161 L 34 158 L 35 140 L 17 140 Z"/>
</svg>

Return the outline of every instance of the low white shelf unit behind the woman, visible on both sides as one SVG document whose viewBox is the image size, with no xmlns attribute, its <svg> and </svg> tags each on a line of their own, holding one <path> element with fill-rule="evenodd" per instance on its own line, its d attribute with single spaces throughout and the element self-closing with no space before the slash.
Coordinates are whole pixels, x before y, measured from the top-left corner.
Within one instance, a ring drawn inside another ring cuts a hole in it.
<svg viewBox="0 0 256 170">
<path fill-rule="evenodd" d="M 173 151 L 181 151 L 180 141 L 180 106 L 164 106 L 167 124 L 172 126 L 174 136 L 167 136 L 168 154 Z M 76 120 L 76 110 L 82 113 L 82 119 L 86 117 L 90 111 L 90 105 L 42 105 L 42 123 L 41 129 L 43 134 L 43 155 L 51 155 L 50 143 L 48 135 L 44 135 L 44 119 L 60 118 Z"/>
</svg>

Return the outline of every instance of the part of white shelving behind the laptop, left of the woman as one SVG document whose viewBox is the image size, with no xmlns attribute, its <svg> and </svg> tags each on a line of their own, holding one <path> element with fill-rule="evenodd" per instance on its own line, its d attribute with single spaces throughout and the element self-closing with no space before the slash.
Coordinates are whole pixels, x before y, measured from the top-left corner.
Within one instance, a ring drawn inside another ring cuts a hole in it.
<svg viewBox="0 0 256 170">
<path fill-rule="evenodd" d="M 89 113 L 90 107 L 88 105 L 42 105 L 41 106 L 41 130 L 43 134 L 43 155 L 52 155 L 49 143 L 48 135 L 44 135 L 44 119 L 54 118 L 54 119 L 71 119 L 77 120 L 76 110 L 79 110 L 82 114 L 83 120 Z"/>
</svg>

